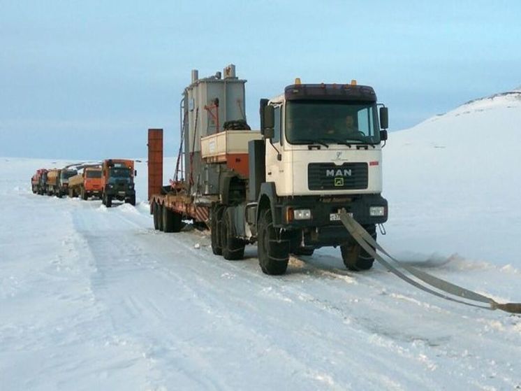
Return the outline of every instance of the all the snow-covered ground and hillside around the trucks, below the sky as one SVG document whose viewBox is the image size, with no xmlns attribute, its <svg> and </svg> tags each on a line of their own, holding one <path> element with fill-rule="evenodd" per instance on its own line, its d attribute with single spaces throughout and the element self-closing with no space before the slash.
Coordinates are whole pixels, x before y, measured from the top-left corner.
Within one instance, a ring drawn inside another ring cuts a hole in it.
<svg viewBox="0 0 521 391">
<path fill-rule="evenodd" d="M 383 246 L 520 301 L 519 124 L 508 94 L 390 134 Z M 136 208 L 31 194 L 64 163 L 0 159 L 0 390 L 521 388 L 518 315 L 351 273 L 335 249 L 281 277 L 255 246 L 227 262 L 205 232 L 152 229 L 145 163 Z"/>
</svg>

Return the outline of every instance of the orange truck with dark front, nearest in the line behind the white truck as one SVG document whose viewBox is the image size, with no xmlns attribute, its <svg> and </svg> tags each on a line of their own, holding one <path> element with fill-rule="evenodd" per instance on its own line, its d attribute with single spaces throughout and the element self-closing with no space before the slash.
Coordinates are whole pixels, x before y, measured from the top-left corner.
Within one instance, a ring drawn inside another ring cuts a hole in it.
<svg viewBox="0 0 521 391">
<path fill-rule="evenodd" d="M 127 159 L 106 159 L 101 166 L 103 205 L 112 206 L 112 200 L 125 201 L 135 205 L 134 161 Z"/>
</svg>

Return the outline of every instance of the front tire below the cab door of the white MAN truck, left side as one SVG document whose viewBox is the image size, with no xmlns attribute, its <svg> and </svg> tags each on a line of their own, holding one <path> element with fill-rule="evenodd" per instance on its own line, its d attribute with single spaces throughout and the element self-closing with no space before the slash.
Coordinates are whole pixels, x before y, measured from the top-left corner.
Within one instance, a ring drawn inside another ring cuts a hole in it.
<svg viewBox="0 0 521 391">
<path fill-rule="evenodd" d="M 271 210 L 260 212 L 258 221 L 258 264 L 263 273 L 277 276 L 288 269 L 289 248 L 284 248 L 277 241 L 277 230 L 273 227 Z"/>
</svg>

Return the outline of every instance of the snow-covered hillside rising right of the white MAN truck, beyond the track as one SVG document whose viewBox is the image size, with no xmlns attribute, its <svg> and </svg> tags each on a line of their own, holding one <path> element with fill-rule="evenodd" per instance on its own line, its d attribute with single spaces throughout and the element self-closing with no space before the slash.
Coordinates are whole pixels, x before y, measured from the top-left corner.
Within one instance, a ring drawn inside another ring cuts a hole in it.
<svg viewBox="0 0 521 391">
<path fill-rule="evenodd" d="M 520 125 L 521 92 L 508 92 L 391 133 L 389 245 L 521 267 Z"/>
</svg>

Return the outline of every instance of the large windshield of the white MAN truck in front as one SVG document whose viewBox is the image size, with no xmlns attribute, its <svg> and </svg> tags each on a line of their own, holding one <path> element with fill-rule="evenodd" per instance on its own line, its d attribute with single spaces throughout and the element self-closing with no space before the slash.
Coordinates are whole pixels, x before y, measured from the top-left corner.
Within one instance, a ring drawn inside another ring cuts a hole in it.
<svg viewBox="0 0 521 391">
<path fill-rule="evenodd" d="M 354 101 L 288 101 L 286 139 L 292 144 L 379 144 L 376 104 Z"/>
</svg>

